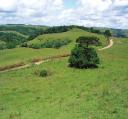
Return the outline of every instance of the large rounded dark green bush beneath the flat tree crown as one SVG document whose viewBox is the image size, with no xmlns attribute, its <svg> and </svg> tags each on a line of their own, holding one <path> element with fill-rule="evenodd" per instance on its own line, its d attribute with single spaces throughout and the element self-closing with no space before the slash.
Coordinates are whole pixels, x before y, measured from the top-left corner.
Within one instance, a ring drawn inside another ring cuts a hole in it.
<svg viewBox="0 0 128 119">
<path fill-rule="evenodd" d="M 71 52 L 69 63 L 75 68 L 96 68 L 99 58 L 94 48 L 76 45 Z"/>
</svg>

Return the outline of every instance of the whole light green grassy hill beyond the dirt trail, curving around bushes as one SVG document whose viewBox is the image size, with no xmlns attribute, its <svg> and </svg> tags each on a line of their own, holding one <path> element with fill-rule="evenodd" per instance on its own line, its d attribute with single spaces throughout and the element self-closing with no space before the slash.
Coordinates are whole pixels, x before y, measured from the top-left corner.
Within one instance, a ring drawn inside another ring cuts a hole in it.
<svg viewBox="0 0 128 119">
<path fill-rule="evenodd" d="M 38 38 L 34 39 L 31 42 L 40 43 L 40 40 L 37 40 L 39 38 L 41 39 L 41 42 L 44 39 L 52 40 L 52 39 L 63 39 L 63 38 L 71 39 L 73 42 L 70 43 L 68 46 L 64 46 L 64 47 L 60 48 L 59 50 L 58 49 L 50 49 L 50 48 L 49 49 L 39 49 L 39 50 L 34 50 L 34 49 L 30 49 L 30 48 L 15 48 L 15 49 L 11 49 L 11 50 L 8 50 L 8 49 L 3 50 L 3 51 L 0 51 L 0 66 L 10 65 L 10 64 L 21 62 L 21 61 L 29 62 L 33 58 L 41 58 L 41 57 L 54 56 L 54 55 L 60 55 L 60 54 L 62 55 L 62 54 L 70 53 L 71 49 L 74 47 L 76 38 L 78 38 L 81 35 L 96 35 L 96 34 L 85 32 L 80 29 L 73 29 L 71 31 L 64 32 L 64 33 L 42 35 L 42 36 L 39 36 Z M 100 37 L 100 39 L 104 45 L 105 44 L 104 36 L 102 36 L 102 35 L 96 35 L 96 36 Z"/>
</svg>

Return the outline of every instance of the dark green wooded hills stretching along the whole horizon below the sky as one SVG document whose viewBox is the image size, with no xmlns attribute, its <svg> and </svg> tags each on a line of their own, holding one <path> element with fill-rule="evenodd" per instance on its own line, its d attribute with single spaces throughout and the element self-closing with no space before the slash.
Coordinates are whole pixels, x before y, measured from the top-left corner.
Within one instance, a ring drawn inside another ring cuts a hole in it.
<svg viewBox="0 0 128 119">
<path fill-rule="evenodd" d="M 0 40 L 6 43 L 6 48 L 15 48 L 17 45 L 21 45 L 24 42 L 32 41 L 33 39 L 42 39 L 38 37 L 40 35 L 47 36 L 45 34 L 55 34 L 55 38 L 58 38 L 59 33 L 63 34 L 63 37 L 66 37 L 68 32 L 72 29 L 81 29 L 86 32 L 95 33 L 95 34 L 104 34 L 106 29 L 109 29 L 112 32 L 112 36 L 114 37 L 128 37 L 128 30 L 126 29 L 112 29 L 112 28 L 100 28 L 100 27 L 84 27 L 84 26 L 38 26 L 38 25 L 24 25 L 24 24 L 6 24 L 0 25 Z M 78 32 L 79 33 L 79 32 Z M 72 38 L 74 34 L 72 35 Z M 49 39 L 49 38 L 48 38 Z M 61 38 L 59 38 L 61 39 Z M 35 40 L 34 40 L 35 41 Z M 37 41 L 36 41 L 37 42 Z M 34 43 L 35 44 L 35 43 Z"/>
</svg>

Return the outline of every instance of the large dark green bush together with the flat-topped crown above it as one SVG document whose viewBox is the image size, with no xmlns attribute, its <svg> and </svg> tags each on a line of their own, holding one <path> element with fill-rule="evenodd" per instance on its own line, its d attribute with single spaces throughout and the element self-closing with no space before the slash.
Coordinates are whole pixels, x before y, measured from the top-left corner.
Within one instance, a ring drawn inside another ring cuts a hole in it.
<svg viewBox="0 0 128 119">
<path fill-rule="evenodd" d="M 95 42 L 94 42 L 95 41 Z M 97 37 L 79 37 L 78 43 L 71 52 L 69 65 L 75 68 L 96 68 L 100 60 L 94 48 L 88 47 L 90 44 L 97 44 Z"/>
</svg>

